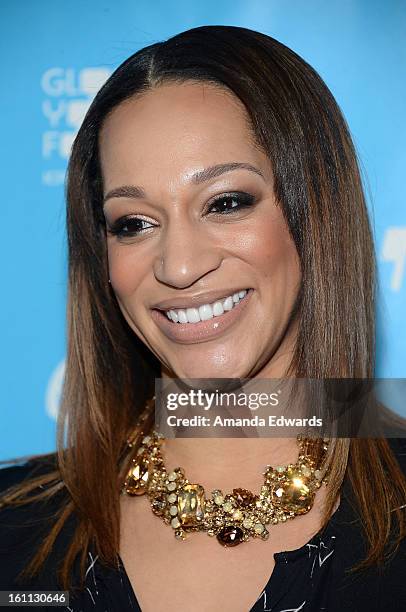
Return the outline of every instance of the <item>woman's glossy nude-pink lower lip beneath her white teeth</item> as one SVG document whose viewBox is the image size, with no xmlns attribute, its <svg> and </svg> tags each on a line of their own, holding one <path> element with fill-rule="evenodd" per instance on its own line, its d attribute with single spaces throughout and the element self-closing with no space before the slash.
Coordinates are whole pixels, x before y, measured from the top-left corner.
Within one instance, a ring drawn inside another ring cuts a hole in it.
<svg viewBox="0 0 406 612">
<path fill-rule="evenodd" d="M 199 323 L 173 323 L 161 310 L 153 309 L 152 318 L 165 336 L 180 344 L 195 344 L 217 338 L 231 327 L 248 306 L 253 289 L 249 289 L 245 297 L 219 317 Z"/>
</svg>

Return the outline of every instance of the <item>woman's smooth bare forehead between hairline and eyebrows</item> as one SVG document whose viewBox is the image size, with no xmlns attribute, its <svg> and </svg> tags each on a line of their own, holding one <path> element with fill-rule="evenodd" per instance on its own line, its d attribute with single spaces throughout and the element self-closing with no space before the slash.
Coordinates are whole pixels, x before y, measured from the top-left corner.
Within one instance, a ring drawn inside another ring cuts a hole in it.
<svg viewBox="0 0 406 612">
<path fill-rule="evenodd" d="M 231 92 L 207 83 L 165 84 L 120 104 L 100 134 L 105 179 L 137 169 L 148 178 L 228 161 L 266 165 L 247 112 Z"/>
</svg>

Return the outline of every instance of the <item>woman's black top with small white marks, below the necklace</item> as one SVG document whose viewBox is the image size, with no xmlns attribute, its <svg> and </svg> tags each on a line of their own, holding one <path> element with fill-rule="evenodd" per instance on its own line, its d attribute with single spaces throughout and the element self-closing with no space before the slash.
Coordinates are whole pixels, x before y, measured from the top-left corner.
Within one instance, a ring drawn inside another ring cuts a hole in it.
<svg viewBox="0 0 406 612">
<path fill-rule="evenodd" d="M 406 473 L 406 440 L 393 439 L 390 443 Z M 44 469 L 46 466 L 38 461 L 2 469 L 0 491 Z M 49 528 L 54 509 L 48 502 L 0 511 L 0 590 L 59 589 L 55 567 L 69 542 L 74 517 L 63 529 L 41 575 L 24 583 L 16 582 L 17 574 Z M 301 548 L 274 555 L 272 575 L 247 612 L 406 612 L 406 540 L 383 570 L 369 568 L 362 573 L 346 574 L 345 570 L 360 561 L 365 552 L 353 493 L 346 479 L 340 506 L 327 526 Z M 69 607 L 63 609 L 72 612 L 141 610 L 121 560 L 117 568 L 107 568 L 91 550 L 88 551 L 86 588 L 71 594 Z"/>
</svg>

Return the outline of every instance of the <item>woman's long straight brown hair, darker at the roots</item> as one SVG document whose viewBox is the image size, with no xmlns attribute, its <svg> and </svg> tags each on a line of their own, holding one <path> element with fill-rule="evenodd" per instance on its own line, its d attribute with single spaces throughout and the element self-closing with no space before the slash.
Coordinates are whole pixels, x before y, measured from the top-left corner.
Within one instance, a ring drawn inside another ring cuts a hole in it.
<svg viewBox="0 0 406 612">
<path fill-rule="evenodd" d="M 9 492 L 26 503 L 64 487 L 65 504 L 27 568 L 35 573 L 74 512 L 77 529 L 60 572 L 68 588 L 77 556 L 96 546 L 113 563 L 119 549 L 122 453 L 160 375 L 156 358 L 129 329 L 108 284 L 98 137 L 124 100 L 166 82 L 224 87 L 245 105 L 268 155 L 275 193 L 301 262 L 299 332 L 286 375 L 372 378 L 375 364 L 375 255 L 357 157 L 331 92 L 302 58 L 245 28 L 203 26 L 141 49 L 95 97 L 73 145 L 67 181 L 69 251 L 67 361 L 58 424 L 58 468 Z M 381 562 L 394 521 L 405 535 L 406 483 L 384 439 L 337 439 L 324 524 L 348 474 L 369 550 Z M 390 478 L 385 475 L 390 474 Z M 40 484 L 45 490 L 35 493 Z"/>
</svg>

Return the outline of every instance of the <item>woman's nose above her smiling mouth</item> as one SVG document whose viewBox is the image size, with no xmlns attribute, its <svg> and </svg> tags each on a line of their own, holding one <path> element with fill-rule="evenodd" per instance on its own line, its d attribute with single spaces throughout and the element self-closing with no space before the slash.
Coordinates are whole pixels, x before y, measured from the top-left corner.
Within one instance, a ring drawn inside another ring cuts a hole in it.
<svg viewBox="0 0 406 612">
<path fill-rule="evenodd" d="M 178 289 L 190 287 L 221 265 L 220 245 L 193 223 L 168 224 L 153 270 L 157 280 Z"/>
</svg>

